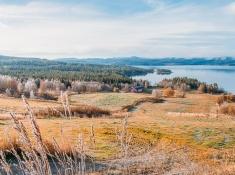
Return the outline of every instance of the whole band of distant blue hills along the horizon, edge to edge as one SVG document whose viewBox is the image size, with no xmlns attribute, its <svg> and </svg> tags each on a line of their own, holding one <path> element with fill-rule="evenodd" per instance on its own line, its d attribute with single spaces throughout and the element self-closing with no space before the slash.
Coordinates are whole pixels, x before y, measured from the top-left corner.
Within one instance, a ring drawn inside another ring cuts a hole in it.
<svg viewBox="0 0 235 175">
<path fill-rule="evenodd" d="M 96 65 L 127 65 L 127 66 L 164 66 L 164 65 L 229 65 L 235 66 L 233 57 L 214 58 L 143 58 L 143 57 L 113 57 L 113 58 L 58 58 L 41 59 L 32 57 L 1 56 L 0 64 L 96 64 Z"/>
</svg>

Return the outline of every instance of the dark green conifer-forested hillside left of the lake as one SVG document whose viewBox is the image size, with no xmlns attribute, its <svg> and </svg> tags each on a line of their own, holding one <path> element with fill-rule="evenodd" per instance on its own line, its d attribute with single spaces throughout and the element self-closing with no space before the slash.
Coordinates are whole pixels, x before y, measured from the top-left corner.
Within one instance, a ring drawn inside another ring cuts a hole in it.
<svg viewBox="0 0 235 175">
<path fill-rule="evenodd" d="M 153 70 L 130 66 L 95 63 L 62 62 L 40 58 L 0 56 L 2 75 L 18 78 L 45 78 L 99 82 L 131 82 L 130 76 L 144 75 Z"/>
</svg>

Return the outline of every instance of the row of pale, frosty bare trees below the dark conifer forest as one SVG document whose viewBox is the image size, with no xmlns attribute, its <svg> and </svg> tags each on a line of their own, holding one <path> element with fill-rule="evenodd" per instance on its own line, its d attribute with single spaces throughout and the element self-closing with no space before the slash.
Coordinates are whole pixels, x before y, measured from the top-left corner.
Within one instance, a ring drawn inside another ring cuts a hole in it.
<svg viewBox="0 0 235 175">
<path fill-rule="evenodd" d="M 8 96 L 20 97 L 24 94 L 26 97 L 51 98 L 50 94 L 57 95 L 61 91 L 72 91 L 76 93 L 101 92 L 101 91 L 119 91 L 129 92 L 131 87 L 148 86 L 149 83 L 143 80 L 134 80 L 133 83 L 119 83 L 118 85 L 101 83 L 97 81 L 60 81 L 54 79 L 34 79 L 34 78 L 16 78 L 6 75 L 0 75 L 0 91 Z"/>
</svg>

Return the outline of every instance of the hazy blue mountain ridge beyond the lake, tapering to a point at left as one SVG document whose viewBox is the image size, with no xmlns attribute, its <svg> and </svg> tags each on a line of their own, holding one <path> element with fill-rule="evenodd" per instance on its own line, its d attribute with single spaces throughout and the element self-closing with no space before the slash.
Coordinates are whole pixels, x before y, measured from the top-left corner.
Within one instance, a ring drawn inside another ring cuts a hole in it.
<svg viewBox="0 0 235 175">
<path fill-rule="evenodd" d="M 164 65 L 235 65 L 233 57 L 217 58 L 141 58 L 141 57 L 117 57 L 117 58 L 62 58 L 56 59 L 66 63 L 83 64 L 107 64 L 129 66 L 164 66 Z"/>
</svg>

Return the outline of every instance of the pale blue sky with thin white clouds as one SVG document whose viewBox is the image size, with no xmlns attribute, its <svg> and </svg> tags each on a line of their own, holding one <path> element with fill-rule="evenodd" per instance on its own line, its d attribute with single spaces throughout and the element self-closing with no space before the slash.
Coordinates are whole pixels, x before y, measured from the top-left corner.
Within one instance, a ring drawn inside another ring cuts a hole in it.
<svg viewBox="0 0 235 175">
<path fill-rule="evenodd" d="M 0 54 L 235 56 L 235 0 L 0 0 Z"/>
</svg>

